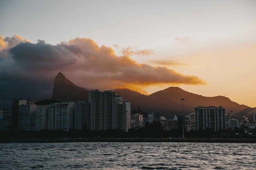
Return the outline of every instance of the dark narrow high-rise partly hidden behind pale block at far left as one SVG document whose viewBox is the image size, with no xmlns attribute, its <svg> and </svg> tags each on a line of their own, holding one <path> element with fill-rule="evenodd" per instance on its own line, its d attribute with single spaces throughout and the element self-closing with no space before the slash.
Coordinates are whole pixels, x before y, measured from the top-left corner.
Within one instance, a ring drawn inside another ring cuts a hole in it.
<svg viewBox="0 0 256 170">
<path fill-rule="evenodd" d="M 27 104 L 25 99 L 13 99 L 12 100 L 12 130 L 18 130 L 18 112 L 21 104 Z"/>
</svg>

